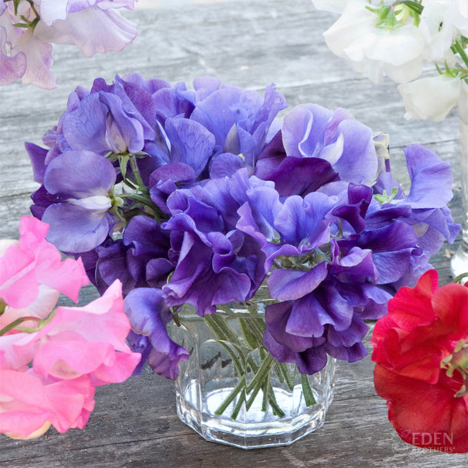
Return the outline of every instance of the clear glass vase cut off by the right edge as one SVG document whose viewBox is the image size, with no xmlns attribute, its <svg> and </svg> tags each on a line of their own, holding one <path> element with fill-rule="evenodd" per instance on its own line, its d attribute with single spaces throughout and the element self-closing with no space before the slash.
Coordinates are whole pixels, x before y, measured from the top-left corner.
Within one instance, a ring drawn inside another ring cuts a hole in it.
<svg viewBox="0 0 468 468">
<path fill-rule="evenodd" d="M 462 178 L 462 239 L 460 247 L 451 259 L 454 278 L 468 273 L 468 84 L 462 80 L 462 91 L 458 100 L 460 114 L 460 171 Z"/>
</svg>

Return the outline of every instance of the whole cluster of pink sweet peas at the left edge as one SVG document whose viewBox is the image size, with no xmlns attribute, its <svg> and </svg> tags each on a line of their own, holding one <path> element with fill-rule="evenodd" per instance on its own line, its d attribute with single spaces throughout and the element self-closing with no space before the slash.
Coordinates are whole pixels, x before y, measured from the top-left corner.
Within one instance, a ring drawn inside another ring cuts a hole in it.
<svg viewBox="0 0 468 468">
<path fill-rule="evenodd" d="M 48 229 L 24 216 L 19 241 L 0 241 L 0 433 L 10 437 L 83 428 L 94 388 L 128 379 L 141 359 L 125 344 L 119 280 L 87 306 L 53 311 L 88 280 L 81 260 L 62 261 L 45 240 Z"/>
</svg>

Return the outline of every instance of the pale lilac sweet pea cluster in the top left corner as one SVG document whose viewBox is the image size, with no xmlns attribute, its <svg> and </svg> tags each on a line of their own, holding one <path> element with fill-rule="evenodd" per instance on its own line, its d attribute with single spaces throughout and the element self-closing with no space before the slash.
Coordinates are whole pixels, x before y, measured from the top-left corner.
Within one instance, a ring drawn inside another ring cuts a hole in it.
<svg viewBox="0 0 468 468">
<path fill-rule="evenodd" d="M 23 0 L 17 5 L 17 14 L 13 1 L 2 2 L 0 28 L 6 33 L 9 57 L 15 58 L 17 63 L 15 73 L 12 73 L 11 63 L 9 67 L 2 64 L 0 83 L 11 83 L 19 78 L 23 84 L 54 88 L 56 80 L 50 71 L 53 62 L 51 44 L 78 46 L 87 57 L 120 51 L 135 39 L 137 28 L 116 9 L 132 9 L 135 1 L 35 0 L 33 7 Z M 26 67 L 22 63 L 25 59 Z M 5 57 L 2 62 L 6 62 Z"/>
</svg>

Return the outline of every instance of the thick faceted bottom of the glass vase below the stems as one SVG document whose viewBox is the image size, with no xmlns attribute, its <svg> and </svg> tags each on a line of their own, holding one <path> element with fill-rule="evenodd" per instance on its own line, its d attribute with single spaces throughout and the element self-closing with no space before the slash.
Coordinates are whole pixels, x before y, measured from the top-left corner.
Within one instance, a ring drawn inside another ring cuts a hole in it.
<svg viewBox="0 0 468 468">
<path fill-rule="evenodd" d="M 313 391 L 318 404 L 306 408 L 301 385 L 296 385 L 294 388 L 293 405 L 291 405 L 290 392 L 274 388 L 278 406 L 285 409 L 284 417 L 279 419 L 273 415 L 271 408 L 262 411 L 262 398 L 259 395 L 248 412 L 245 411 L 245 407 L 242 408 L 234 420 L 230 415 L 234 409 L 235 401 L 227 407 L 223 415 L 215 413 L 220 404 L 232 392 L 232 386 L 217 388 L 205 395 L 203 413 L 196 409 L 200 403 L 198 388 L 199 383 L 191 381 L 187 385 L 185 395 L 180 395 L 176 391 L 177 415 L 181 421 L 193 428 L 208 442 L 228 444 L 241 449 L 289 445 L 316 431 L 323 426 L 327 408 L 333 399 L 332 389 L 329 390 L 325 401 L 320 401 L 319 395 Z"/>
</svg>

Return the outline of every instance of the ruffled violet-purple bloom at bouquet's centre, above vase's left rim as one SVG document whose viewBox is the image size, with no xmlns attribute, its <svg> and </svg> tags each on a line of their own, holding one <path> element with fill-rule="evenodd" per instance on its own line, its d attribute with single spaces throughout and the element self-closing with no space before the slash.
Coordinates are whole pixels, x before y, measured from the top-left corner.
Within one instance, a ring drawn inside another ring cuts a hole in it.
<svg viewBox="0 0 468 468">
<path fill-rule="evenodd" d="M 270 187 L 247 171 L 204 186 L 180 189 L 168 198 L 173 215 L 162 225 L 171 231 L 170 258 L 175 271 L 163 286 L 170 306 L 191 304 L 199 315 L 214 313 L 216 304 L 245 301 L 265 277 L 261 245 L 239 229 L 237 211 L 256 191 Z"/>
</svg>

